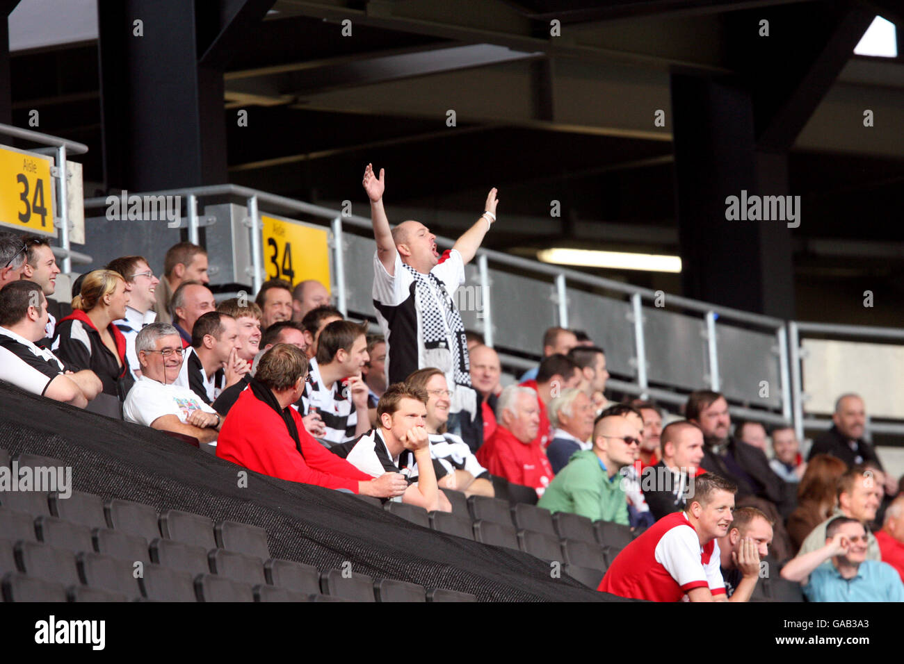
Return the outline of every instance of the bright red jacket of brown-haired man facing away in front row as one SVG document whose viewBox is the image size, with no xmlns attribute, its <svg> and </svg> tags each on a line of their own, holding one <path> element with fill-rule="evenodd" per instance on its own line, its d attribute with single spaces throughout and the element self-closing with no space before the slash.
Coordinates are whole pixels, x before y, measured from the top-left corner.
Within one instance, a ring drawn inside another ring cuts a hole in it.
<svg viewBox="0 0 904 664">
<path fill-rule="evenodd" d="M 327 489 L 357 493 L 358 482 L 373 479 L 317 443 L 307 433 L 296 409 L 291 410 L 304 456 L 298 454 L 282 417 L 255 397 L 250 388 L 239 395 L 223 421 L 217 436 L 217 456 L 250 471 Z"/>
</svg>

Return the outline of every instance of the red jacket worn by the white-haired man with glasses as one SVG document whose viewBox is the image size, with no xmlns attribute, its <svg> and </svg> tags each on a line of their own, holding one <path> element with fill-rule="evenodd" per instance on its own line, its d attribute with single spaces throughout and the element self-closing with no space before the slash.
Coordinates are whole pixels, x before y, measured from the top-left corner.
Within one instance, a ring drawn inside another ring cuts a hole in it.
<svg viewBox="0 0 904 664">
<path fill-rule="evenodd" d="M 475 455 L 491 475 L 533 487 L 538 496 L 543 495 L 552 481 L 552 466 L 540 444 L 536 440 L 522 443 L 504 426 L 497 426 Z"/>
</svg>

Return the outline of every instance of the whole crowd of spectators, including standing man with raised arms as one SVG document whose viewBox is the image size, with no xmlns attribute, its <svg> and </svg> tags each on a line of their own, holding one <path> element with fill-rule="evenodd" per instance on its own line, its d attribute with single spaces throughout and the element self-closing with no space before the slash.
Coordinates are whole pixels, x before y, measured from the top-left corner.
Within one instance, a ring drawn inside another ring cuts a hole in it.
<svg viewBox="0 0 904 664">
<path fill-rule="evenodd" d="M 805 460 L 792 426 L 732 429 L 717 392 L 692 392 L 681 414 L 610 403 L 606 352 L 582 331 L 551 327 L 539 366 L 504 387 L 452 297 L 496 190 L 440 254 L 418 221 L 390 226 L 382 171 L 368 164 L 363 187 L 381 335 L 313 280 L 217 304 L 206 252 L 188 242 L 159 278 L 140 256 L 89 272 L 70 312 L 50 299 L 48 241 L 3 231 L 0 379 L 255 472 L 426 510 L 452 510 L 442 489 L 529 487 L 553 513 L 634 529 L 598 588 L 624 597 L 744 602 L 766 563 L 810 601 L 904 601 L 904 495 L 864 440 L 861 397 L 838 398 Z"/>
</svg>

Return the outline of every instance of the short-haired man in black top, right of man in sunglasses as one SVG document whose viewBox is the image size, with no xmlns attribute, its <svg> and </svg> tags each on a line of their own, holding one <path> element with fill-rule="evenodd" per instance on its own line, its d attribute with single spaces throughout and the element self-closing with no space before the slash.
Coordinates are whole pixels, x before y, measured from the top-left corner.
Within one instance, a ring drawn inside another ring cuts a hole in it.
<svg viewBox="0 0 904 664">
<path fill-rule="evenodd" d="M 688 420 L 666 426 L 661 436 L 662 459 L 641 473 L 644 499 L 654 519 L 686 509 L 693 497 L 693 478 L 701 474 L 703 432 Z"/>
</svg>

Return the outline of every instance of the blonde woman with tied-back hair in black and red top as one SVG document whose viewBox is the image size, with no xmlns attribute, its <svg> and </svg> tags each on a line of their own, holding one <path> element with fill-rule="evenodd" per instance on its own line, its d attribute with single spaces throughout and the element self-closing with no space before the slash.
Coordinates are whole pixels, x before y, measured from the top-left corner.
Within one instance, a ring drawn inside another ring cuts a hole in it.
<svg viewBox="0 0 904 664">
<path fill-rule="evenodd" d="M 64 362 L 94 371 L 104 384 L 104 394 L 120 401 L 135 383 L 126 359 L 126 338 L 113 323 L 125 317 L 128 302 L 126 280 L 118 272 L 89 272 L 80 295 L 72 300 L 72 313 L 57 323 L 52 346 Z"/>
</svg>

